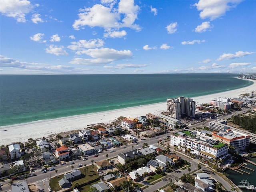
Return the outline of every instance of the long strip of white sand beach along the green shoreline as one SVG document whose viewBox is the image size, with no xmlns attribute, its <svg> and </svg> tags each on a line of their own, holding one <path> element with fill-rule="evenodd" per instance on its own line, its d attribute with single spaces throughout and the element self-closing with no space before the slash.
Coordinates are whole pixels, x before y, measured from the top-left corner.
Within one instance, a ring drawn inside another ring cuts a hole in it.
<svg viewBox="0 0 256 192">
<path fill-rule="evenodd" d="M 253 80 L 252 80 L 253 81 Z M 210 94 L 206 96 L 194 97 L 196 104 L 209 103 L 210 100 L 217 97 L 238 98 L 240 94 L 256 91 L 256 83 L 227 92 Z M 136 118 L 138 116 L 145 116 L 148 113 L 160 114 L 166 110 L 166 102 L 158 104 L 150 104 L 146 106 L 138 106 L 131 108 L 124 108 L 120 110 L 112 110 L 106 112 L 98 112 L 92 114 L 84 114 L 79 116 L 70 116 L 65 118 L 57 118 L 52 120 L 40 120 L 25 124 L 16 124 L 12 126 L 0 127 L 0 145 L 8 145 L 12 142 L 27 142 L 29 138 L 37 139 L 45 136 L 56 134 L 60 132 L 67 132 L 70 130 L 82 130 L 87 128 L 87 125 L 97 123 L 110 123 L 120 116 Z M 7 131 L 3 131 L 7 130 Z"/>
</svg>

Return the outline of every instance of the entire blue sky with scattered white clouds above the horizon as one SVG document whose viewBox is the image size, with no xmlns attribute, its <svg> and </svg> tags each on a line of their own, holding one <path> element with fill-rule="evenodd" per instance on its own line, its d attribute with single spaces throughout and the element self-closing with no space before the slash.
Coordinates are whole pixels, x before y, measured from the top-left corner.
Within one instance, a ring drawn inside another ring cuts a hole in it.
<svg viewBox="0 0 256 192">
<path fill-rule="evenodd" d="M 1 74 L 256 72 L 255 0 L 1 0 Z"/>
</svg>

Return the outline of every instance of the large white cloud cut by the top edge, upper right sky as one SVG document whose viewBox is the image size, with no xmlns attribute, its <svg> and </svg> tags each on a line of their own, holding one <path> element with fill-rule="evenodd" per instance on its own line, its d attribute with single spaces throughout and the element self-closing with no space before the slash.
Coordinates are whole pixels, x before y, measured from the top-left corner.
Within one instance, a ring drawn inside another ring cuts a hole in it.
<svg viewBox="0 0 256 192">
<path fill-rule="evenodd" d="M 242 0 L 199 0 L 194 4 L 200 11 L 200 18 L 214 20 L 223 16 L 231 8 L 236 7 Z"/>
</svg>

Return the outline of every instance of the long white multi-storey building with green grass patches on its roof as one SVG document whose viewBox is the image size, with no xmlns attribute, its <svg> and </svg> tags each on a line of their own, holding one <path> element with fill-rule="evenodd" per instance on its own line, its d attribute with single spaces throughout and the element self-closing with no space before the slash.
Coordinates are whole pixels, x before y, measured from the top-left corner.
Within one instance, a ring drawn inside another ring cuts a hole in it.
<svg viewBox="0 0 256 192">
<path fill-rule="evenodd" d="M 213 140 L 198 131 L 185 130 L 170 135 L 170 146 L 177 146 L 181 150 L 190 150 L 190 153 L 204 158 L 219 159 L 228 154 L 228 145 Z"/>
</svg>

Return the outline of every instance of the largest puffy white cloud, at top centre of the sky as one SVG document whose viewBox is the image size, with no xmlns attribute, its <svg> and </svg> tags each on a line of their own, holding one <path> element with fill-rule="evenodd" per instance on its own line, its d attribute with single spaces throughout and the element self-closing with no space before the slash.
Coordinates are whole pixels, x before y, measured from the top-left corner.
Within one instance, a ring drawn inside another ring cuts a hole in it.
<svg viewBox="0 0 256 192">
<path fill-rule="evenodd" d="M 73 28 L 79 30 L 82 26 L 98 26 L 108 31 L 122 27 L 133 28 L 137 31 L 141 29 L 140 26 L 134 24 L 139 11 L 139 7 L 134 5 L 134 0 L 120 0 L 118 8 L 113 8 L 116 1 L 104 0 L 102 2 L 108 5 L 111 3 L 111 6 L 95 4 L 91 8 L 80 9 L 78 20 L 74 21 Z"/>
</svg>

